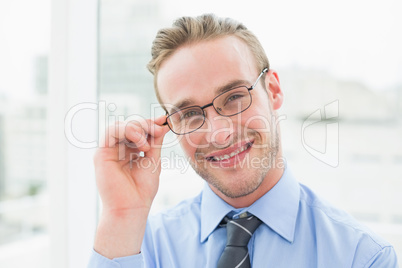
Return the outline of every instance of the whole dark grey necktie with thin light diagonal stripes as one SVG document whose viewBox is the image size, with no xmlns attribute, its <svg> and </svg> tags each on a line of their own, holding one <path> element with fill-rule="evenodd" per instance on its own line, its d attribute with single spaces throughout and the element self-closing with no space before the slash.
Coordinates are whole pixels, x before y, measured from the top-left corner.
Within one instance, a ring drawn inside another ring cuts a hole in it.
<svg viewBox="0 0 402 268">
<path fill-rule="evenodd" d="M 247 244 L 261 224 L 255 216 L 231 220 L 225 217 L 227 242 L 217 268 L 249 268 L 250 257 Z"/>
</svg>

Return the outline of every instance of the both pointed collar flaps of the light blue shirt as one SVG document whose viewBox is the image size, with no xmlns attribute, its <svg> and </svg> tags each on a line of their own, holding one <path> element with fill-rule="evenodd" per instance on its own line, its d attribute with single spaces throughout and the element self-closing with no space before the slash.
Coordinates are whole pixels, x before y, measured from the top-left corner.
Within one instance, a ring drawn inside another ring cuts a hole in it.
<svg viewBox="0 0 402 268">
<path fill-rule="evenodd" d="M 278 183 L 247 211 L 257 216 L 281 237 L 293 242 L 299 210 L 300 186 L 288 168 Z M 201 237 L 203 243 L 234 208 L 217 196 L 205 184 L 201 200 Z"/>
</svg>

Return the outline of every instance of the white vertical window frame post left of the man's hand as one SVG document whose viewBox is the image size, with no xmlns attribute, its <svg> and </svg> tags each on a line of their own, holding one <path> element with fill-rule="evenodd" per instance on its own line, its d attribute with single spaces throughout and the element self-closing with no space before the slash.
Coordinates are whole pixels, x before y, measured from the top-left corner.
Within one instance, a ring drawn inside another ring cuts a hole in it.
<svg viewBox="0 0 402 268">
<path fill-rule="evenodd" d="M 97 103 L 98 1 L 52 0 L 49 57 L 48 158 L 50 267 L 82 267 L 89 261 L 97 222 L 94 149 L 77 148 L 65 136 L 71 107 Z M 89 114 L 89 115 L 88 115 Z M 97 138 L 97 114 L 83 114 L 74 128 Z"/>
</svg>

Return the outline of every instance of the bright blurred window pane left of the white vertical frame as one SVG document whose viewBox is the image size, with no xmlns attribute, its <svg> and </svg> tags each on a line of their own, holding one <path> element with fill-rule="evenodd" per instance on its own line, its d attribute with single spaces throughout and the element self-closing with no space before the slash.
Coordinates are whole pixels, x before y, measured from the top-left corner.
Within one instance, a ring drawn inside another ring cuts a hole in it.
<svg viewBox="0 0 402 268">
<path fill-rule="evenodd" d="M 46 267 L 50 2 L 1 2 L 0 35 L 0 263 Z"/>
</svg>

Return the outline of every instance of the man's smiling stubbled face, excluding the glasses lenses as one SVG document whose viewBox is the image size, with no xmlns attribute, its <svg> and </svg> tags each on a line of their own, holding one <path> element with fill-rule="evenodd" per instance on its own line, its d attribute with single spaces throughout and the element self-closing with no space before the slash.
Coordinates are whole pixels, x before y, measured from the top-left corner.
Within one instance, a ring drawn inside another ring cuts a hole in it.
<svg viewBox="0 0 402 268">
<path fill-rule="evenodd" d="M 228 36 L 180 48 L 162 64 L 157 83 L 171 113 L 171 105 L 184 100 L 186 106 L 208 104 L 227 85 L 250 87 L 259 74 L 246 44 Z M 272 72 L 250 91 L 252 104 L 244 112 L 224 117 L 210 106 L 204 110 L 206 121 L 200 129 L 179 136 L 191 165 L 218 195 L 237 198 L 253 193 L 278 154 L 269 89 L 276 78 L 270 76 Z"/>
</svg>

